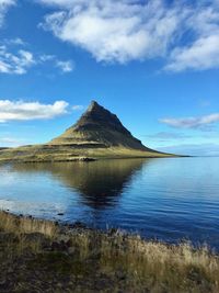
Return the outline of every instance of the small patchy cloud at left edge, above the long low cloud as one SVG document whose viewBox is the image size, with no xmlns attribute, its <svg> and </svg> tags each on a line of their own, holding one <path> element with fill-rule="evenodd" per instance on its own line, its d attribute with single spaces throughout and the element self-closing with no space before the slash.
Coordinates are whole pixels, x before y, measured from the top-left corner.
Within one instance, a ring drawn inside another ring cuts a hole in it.
<svg viewBox="0 0 219 293">
<path fill-rule="evenodd" d="M 31 52 L 20 49 L 18 54 L 12 54 L 5 46 L 0 46 L 0 74 L 23 75 L 34 64 Z"/>
</svg>

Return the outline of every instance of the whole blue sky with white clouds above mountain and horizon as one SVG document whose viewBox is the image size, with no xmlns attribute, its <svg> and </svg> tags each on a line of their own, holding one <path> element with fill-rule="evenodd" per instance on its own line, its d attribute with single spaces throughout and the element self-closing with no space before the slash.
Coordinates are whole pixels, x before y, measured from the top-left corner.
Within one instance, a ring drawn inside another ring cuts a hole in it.
<svg viewBox="0 0 219 293">
<path fill-rule="evenodd" d="M 91 100 L 151 148 L 219 155 L 219 0 L 0 0 L 0 147 Z"/>
</svg>

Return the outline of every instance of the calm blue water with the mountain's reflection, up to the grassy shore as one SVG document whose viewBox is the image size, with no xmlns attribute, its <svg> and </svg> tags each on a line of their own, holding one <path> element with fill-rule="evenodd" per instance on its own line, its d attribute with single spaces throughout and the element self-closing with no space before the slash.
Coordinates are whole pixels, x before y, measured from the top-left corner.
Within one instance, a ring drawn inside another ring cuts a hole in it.
<svg viewBox="0 0 219 293">
<path fill-rule="evenodd" d="M 219 250 L 219 158 L 0 166 L 0 209 Z"/>
</svg>

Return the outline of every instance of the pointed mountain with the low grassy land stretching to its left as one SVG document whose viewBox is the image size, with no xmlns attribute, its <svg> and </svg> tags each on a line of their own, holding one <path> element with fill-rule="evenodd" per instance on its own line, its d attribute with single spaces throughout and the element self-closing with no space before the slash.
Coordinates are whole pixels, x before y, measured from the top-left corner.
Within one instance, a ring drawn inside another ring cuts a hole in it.
<svg viewBox="0 0 219 293">
<path fill-rule="evenodd" d="M 80 120 L 44 145 L 0 150 L 0 161 L 72 161 L 99 158 L 148 158 L 174 155 L 150 149 L 119 119 L 92 101 Z"/>
</svg>

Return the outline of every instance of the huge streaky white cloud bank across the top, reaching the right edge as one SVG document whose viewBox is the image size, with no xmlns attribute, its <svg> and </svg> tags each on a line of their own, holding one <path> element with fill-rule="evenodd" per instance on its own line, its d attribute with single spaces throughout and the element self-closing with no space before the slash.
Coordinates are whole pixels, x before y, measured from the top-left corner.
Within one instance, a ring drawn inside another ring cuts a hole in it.
<svg viewBox="0 0 219 293">
<path fill-rule="evenodd" d="M 171 71 L 219 68 L 218 0 L 38 2 L 53 7 L 43 27 L 90 52 L 97 61 L 159 57 Z"/>
</svg>

